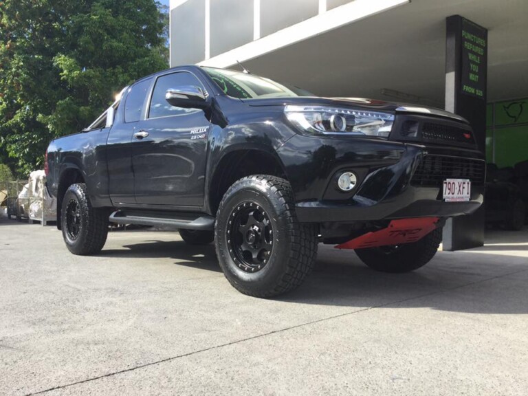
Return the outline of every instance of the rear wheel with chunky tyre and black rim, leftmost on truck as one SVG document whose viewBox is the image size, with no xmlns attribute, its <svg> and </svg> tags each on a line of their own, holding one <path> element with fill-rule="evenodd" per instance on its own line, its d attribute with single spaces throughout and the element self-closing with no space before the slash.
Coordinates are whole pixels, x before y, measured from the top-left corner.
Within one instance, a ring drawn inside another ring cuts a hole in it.
<svg viewBox="0 0 528 396">
<path fill-rule="evenodd" d="M 66 247 L 73 254 L 100 252 L 107 241 L 107 210 L 92 208 L 86 184 L 72 184 L 66 191 L 61 211 L 61 225 Z"/>
</svg>

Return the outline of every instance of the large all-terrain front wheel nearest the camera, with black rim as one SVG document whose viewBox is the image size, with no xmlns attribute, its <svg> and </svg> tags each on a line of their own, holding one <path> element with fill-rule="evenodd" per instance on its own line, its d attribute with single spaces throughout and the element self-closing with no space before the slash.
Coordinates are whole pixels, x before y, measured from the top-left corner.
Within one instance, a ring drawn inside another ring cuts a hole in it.
<svg viewBox="0 0 528 396">
<path fill-rule="evenodd" d="M 231 285 L 261 298 L 298 287 L 317 256 L 316 227 L 297 221 L 292 186 L 269 175 L 243 177 L 225 192 L 214 244 Z"/>
</svg>

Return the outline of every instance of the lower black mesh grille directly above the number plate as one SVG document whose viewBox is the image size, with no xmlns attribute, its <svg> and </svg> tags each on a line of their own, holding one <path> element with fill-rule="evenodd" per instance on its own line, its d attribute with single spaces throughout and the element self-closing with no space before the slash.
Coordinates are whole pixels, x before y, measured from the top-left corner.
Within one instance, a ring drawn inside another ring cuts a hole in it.
<svg viewBox="0 0 528 396">
<path fill-rule="evenodd" d="M 421 159 L 410 184 L 439 187 L 445 179 L 470 179 L 475 186 L 484 184 L 485 162 L 480 159 L 426 155 Z"/>
</svg>

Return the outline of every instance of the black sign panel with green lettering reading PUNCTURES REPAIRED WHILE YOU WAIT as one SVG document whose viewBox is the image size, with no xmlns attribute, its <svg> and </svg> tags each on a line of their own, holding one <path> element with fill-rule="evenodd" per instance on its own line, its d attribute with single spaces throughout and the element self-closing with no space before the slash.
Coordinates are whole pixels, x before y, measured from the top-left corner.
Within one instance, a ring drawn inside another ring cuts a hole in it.
<svg viewBox="0 0 528 396">
<path fill-rule="evenodd" d="M 485 98 L 487 69 L 487 30 L 462 19 L 462 80 L 463 94 Z"/>
</svg>

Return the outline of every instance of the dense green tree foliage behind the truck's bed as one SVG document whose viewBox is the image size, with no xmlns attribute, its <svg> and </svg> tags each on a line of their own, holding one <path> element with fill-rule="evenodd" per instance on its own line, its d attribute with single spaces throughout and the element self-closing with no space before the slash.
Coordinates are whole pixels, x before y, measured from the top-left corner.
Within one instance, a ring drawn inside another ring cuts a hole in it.
<svg viewBox="0 0 528 396">
<path fill-rule="evenodd" d="M 0 163 L 26 175 L 133 80 L 168 67 L 154 0 L 0 0 Z"/>
</svg>

